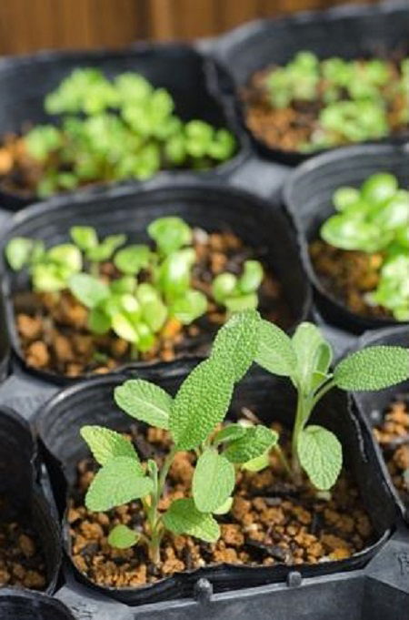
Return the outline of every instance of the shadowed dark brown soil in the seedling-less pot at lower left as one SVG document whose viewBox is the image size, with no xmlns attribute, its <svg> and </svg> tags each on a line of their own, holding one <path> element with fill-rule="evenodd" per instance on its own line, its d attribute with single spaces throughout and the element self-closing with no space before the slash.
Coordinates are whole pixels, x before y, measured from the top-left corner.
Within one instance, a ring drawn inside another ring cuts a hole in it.
<svg viewBox="0 0 409 620">
<path fill-rule="evenodd" d="M 11 585 L 44 590 L 45 558 L 30 525 L 17 521 L 0 496 L 0 588 Z"/>
</svg>

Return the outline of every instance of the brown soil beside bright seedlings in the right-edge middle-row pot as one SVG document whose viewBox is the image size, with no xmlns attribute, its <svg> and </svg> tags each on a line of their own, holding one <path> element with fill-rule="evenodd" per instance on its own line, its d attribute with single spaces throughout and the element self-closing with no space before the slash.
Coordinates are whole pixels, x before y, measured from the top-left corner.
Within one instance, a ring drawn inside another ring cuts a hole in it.
<svg viewBox="0 0 409 620">
<path fill-rule="evenodd" d="M 324 289 L 351 312 L 378 319 L 394 318 L 390 310 L 371 306 L 365 300 L 379 283 L 382 254 L 334 248 L 318 239 L 310 245 L 310 257 Z"/>
</svg>

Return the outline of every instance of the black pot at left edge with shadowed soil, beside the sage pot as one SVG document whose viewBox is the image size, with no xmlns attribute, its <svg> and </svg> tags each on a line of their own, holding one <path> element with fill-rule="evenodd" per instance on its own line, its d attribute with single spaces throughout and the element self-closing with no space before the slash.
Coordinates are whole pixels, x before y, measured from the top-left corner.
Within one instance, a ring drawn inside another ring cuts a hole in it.
<svg viewBox="0 0 409 620">
<path fill-rule="evenodd" d="M 29 523 L 45 554 L 47 586 L 53 593 L 61 564 L 61 538 L 55 508 L 40 483 L 41 462 L 37 458 L 30 428 L 14 411 L 0 408 L 0 495 L 7 501 L 13 519 Z M 1 617 L 1 615 L 0 615 Z"/>
</svg>

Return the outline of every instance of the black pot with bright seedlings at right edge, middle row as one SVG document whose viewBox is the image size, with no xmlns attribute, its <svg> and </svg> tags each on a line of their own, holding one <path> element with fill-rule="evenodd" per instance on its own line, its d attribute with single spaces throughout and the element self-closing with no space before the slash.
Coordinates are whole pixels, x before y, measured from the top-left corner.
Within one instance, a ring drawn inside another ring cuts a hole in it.
<svg viewBox="0 0 409 620">
<path fill-rule="evenodd" d="M 304 162 L 284 185 L 284 203 L 294 220 L 304 269 L 314 286 L 318 309 L 324 320 L 354 333 L 400 323 L 393 318 L 355 314 L 335 299 L 315 272 L 308 245 L 318 238 L 321 224 L 334 213 L 334 190 L 343 185 L 359 187 L 375 172 L 391 172 L 400 187 L 409 188 L 409 143 L 346 147 L 319 155 Z"/>
</svg>

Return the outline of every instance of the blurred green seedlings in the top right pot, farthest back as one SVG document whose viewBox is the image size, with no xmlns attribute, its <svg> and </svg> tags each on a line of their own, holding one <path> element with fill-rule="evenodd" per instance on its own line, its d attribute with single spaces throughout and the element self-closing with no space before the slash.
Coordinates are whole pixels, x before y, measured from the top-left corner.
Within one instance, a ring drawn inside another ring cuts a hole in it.
<svg viewBox="0 0 409 620">
<path fill-rule="evenodd" d="M 319 60 L 311 52 L 299 52 L 287 65 L 274 67 L 265 87 L 274 108 L 319 105 L 310 141 L 301 145 L 301 150 L 314 151 L 387 136 L 388 114 L 396 101 L 397 120 L 404 127 L 409 121 L 408 67 L 408 58 L 396 72 L 380 59 Z"/>
</svg>

